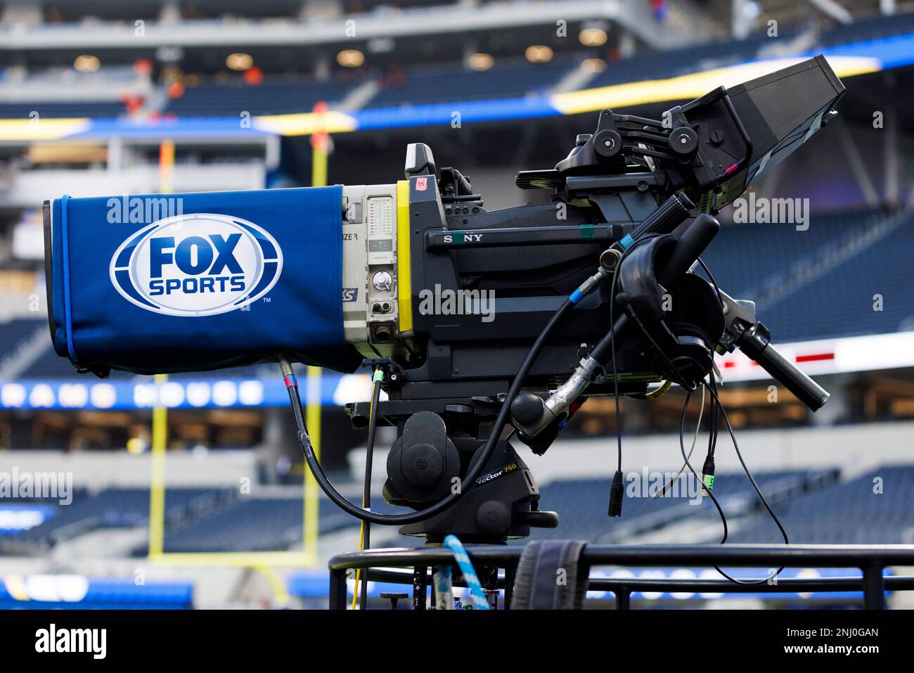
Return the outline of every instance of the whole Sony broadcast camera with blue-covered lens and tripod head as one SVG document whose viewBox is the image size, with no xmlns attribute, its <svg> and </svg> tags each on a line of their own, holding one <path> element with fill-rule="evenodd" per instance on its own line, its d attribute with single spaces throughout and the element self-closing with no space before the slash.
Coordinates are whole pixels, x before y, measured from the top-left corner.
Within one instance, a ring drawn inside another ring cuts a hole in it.
<svg viewBox="0 0 914 673">
<path fill-rule="evenodd" d="M 751 301 L 693 271 L 717 211 L 828 123 L 843 92 L 820 56 L 659 120 L 603 110 L 554 168 L 517 174 L 551 193 L 517 208 L 486 210 L 424 144 L 396 183 L 184 195 L 180 214 L 101 235 L 103 199 L 54 199 L 55 347 L 100 375 L 280 358 L 306 459 L 337 505 L 430 540 L 525 537 L 558 516 L 539 509 L 508 437 L 542 454 L 590 396 L 695 390 L 715 352 L 739 347 L 811 409 L 827 400 Z M 103 302 L 118 297 L 114 315 Z M 415 512 L 367 512 L 330 485 L 290 360 L 383 373 L 388 399 L 347 411 L 372 437 L 397 427 L 384 496 Z"/>
</svg>

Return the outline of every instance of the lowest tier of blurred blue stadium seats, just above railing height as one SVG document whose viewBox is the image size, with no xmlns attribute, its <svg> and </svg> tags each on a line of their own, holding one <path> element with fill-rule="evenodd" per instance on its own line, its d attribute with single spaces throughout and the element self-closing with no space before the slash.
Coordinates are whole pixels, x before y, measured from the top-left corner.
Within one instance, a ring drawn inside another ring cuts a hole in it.
<svg viewBox="0 0 914 673">
<path fill-rule="evenodd" d="M 792 542 L 878 543 L 914 540 L 914 465 L 886 466 L 851 481 L 836 470 L 781 471 L 756 475 Z M 881 479 L 881 493 L 874 491 Z M 681 520 L 717 528 L 717 511 L 683 497 L 625 497 L 621 518 L 609 518 L 609 478 L 555 481 L 541 489 L 540 507 L 556 510 L 558 529 L 533 529 L 530 539 L 630 541 Z M 729 541 L 780 542 L 781 536 L 745 475 L 718 475 L 714 489 L 731 523 Z M 172 552 L 283 550 L 301 539 L 300 497 L 238 497 L 233 490 L 175 488 L 166 495 L 165 550 Z M 385 504 L 377 511 L 393 511 Z M 399 511 L 399 508 L 398 508 Z M 149 491 L 109 488 L 94 496 L 80 491 L 68 507 L 33 529 L 0 537 L 3 553 L 40 553 L 61 539 L 101 528 L 145 523 Z M 741 524 L 741 525 L 740 525 Z M 354 518 L 323 500 L 322 534 L 356 527 Z M 385 531 L 387 532 L 387 531 Z M 717 539 L 715 532 L 707 541 Z M 378 531 L 376 546 L 403 546 L 409 539 Z M 418 541 L 421 543 L 421 540 Z M 142 554 L 143 550 L 136 550 Z"/>
</svg>

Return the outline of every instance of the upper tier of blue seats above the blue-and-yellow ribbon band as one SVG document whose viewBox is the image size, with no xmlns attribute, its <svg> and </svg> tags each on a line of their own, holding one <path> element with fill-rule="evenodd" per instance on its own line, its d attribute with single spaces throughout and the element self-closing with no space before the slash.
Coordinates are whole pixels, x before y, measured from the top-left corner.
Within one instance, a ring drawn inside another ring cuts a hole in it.
<svg viewBox="0 0 914 673">
<path fill-rule="evenodd" d="M 415 0 L 418 2 L 418 0 Z M 851 42 L 873 40 L 914 31 L 914 12 L 894 16 L 876 16 L 825 29 L 813 36 L 815 50 Z M 775 49 L 790 51 L 792 41 L 803 31 L 797 27 L 781 27 L 777 37 L 761 32 L 739 40 L 716 40 L 705 44 L 667 51 L 643 51 L 632 57 L 613 61 L 588 82 L 587 87 L 601 87 L 629 81 L 675 77 L 701 69 L 719 68 L 743 61 L 782 55 Z M 478 101 L 485 99 L 519 98 L 548 91 L 558 80 L 576 67 L 579 55 L 557 55 L 548 63 L 532 64 L 523 59 L 505 62 L 496 59 L 492 69 L 477 72 L 455 65 L 430 67 L 407 66 L 400 73 L 402 80 L 381 77 L 381 91 L 368 102 L 368 107 L 397 107 L 422 103 Z M 229 83 L 207 81 L 187 87 L 182 96 L 168 101 L 163 111 L 183 117 L 236 116 L 251 114 L 283 114 L 308 112 L 317 101 L 336 102 L 345 97 L 352 82 L 313 80 L 301 76 L 268 76 L 258 85 L 242 80 Z M 120 101 L 73 101 L 48 103 L 2 103 L 0 118 L 28 118 L 37 111 L 48 118 L 96 117 L 111 118 L 125 113 Z"/>
</svg>

